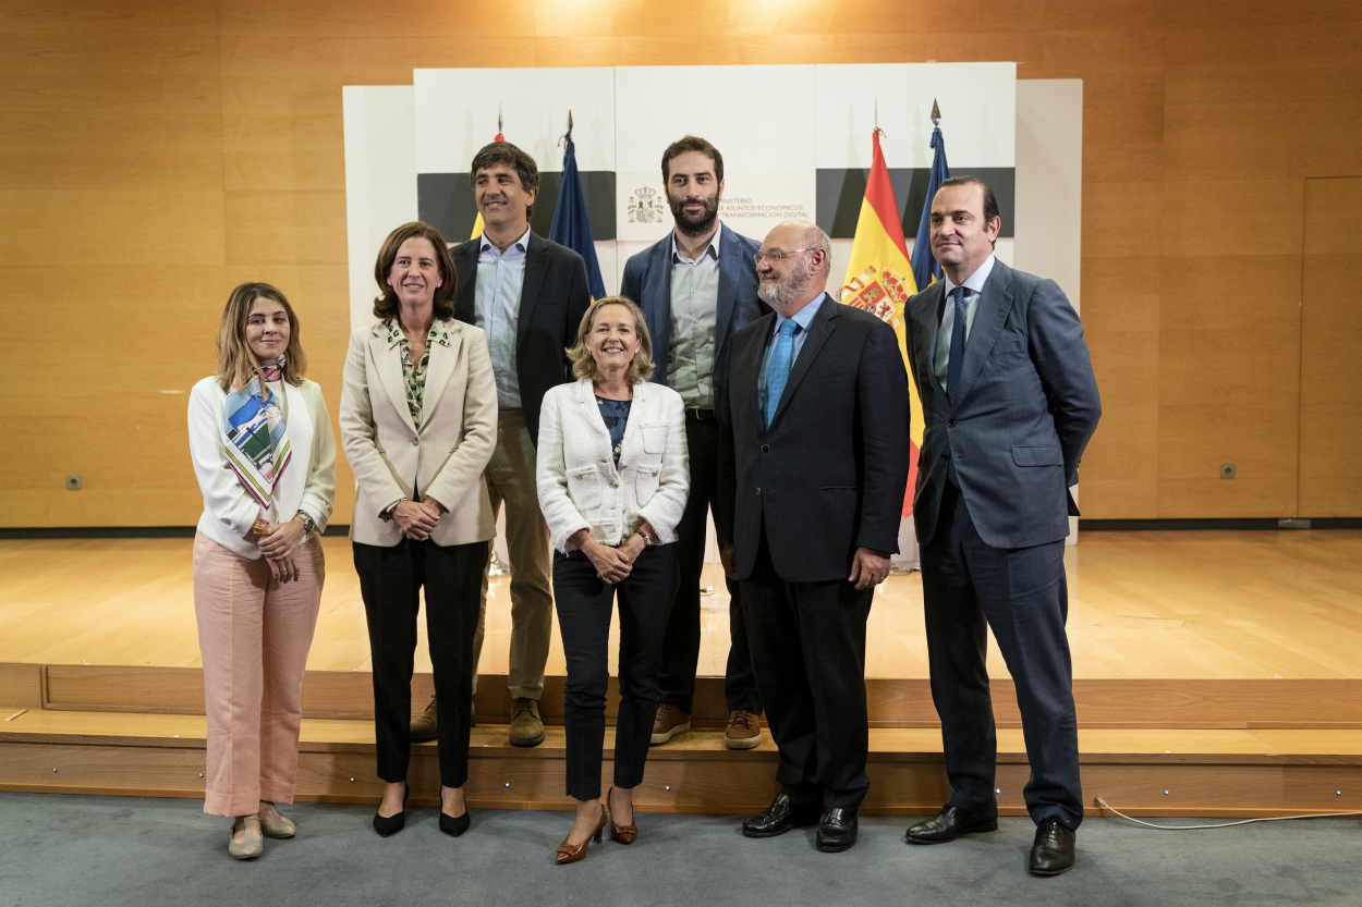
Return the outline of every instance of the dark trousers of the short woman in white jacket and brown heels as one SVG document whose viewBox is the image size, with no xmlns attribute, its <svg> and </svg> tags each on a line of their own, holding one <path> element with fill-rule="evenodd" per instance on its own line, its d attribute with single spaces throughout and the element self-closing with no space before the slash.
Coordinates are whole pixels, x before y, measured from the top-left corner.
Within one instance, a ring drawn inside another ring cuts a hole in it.
<svg viewBox="0 0 1362 907">
<path fill-rule="evenodd" d="M 610 611 L 620 596 L 620 714 L 614 730 L 614 786 L 643 780 L 652 719 L 658 714 L 662 639 L 676 592 L 676 545 L 644 549 L 618 586 L 597 577 L 580 552 L 553 554 L 553 601 L 558 611 L 568 681 L 563 693 L 568 795 L 601 795 L 605 693 L 609 682 Z"/>
</svg>

